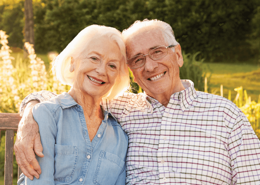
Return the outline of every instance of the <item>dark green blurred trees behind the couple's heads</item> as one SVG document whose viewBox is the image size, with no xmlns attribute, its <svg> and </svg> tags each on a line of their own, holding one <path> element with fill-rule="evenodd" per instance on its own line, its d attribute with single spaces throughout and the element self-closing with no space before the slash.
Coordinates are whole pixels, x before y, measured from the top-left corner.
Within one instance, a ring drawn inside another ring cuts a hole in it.
<svg viewBox="0 0 260 185">
<path fill-rule="evenodd" d="M 22 46 L 23 2 L 0 4 L 10 46 Z M 260 52 L 259 0 L 33 0 L 33 6 L 37 52 L 62 51 L 92 24 L 123 31 L 145 18 L 169 23 L 183 51 L 200 51 L 207 61 L 245 61 Z"/>
</svg>

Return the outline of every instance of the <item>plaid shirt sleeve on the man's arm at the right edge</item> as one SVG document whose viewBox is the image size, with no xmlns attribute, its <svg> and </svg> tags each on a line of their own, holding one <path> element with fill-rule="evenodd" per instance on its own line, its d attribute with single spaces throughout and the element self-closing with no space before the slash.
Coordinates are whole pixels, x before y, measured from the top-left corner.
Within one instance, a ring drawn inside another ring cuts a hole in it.
<svg viewBox="0 0 260 185">
<path fill-rule="evenodd" d="M 239 112 L 228 139 L 233 184 L 260 183 L 260 148 L 250 122 Z"/>
</svg>

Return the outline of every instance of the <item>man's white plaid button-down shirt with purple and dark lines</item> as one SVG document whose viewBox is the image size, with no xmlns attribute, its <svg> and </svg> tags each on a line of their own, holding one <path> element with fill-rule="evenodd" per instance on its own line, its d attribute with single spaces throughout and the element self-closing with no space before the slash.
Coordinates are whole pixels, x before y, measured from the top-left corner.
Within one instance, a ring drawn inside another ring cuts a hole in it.
<svg viewBox="0 0 260 185">
<path fill-rule="evenodd" d="M 182 82 L 167 107 L 145 93 L 101 102 L 129 137 L 127 184 L 259 185 L 260 141 L 244 113 Z M 32 93 L 23 103 L 48 96 Z"/>
</svg>

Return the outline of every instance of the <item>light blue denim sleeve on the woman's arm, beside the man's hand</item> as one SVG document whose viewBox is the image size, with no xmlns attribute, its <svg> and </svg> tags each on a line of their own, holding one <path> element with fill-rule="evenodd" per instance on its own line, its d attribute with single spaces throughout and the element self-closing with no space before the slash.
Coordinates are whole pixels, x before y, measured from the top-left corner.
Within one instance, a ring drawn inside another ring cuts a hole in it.
<svg viewBox="0 0 260 185">
<path fill-rule="evenodd" d="M 57 125 L 51 112 L 43 104 L 37 104 L 32 110 L 35 121 L 39 125 L 44 157 L 38 157 L 37 161 L 42 169 L 40 178 L 31 181 L 25 178 L 25 184 L 54 184 L 54 152 L 57 136 Z"/>
</svg>

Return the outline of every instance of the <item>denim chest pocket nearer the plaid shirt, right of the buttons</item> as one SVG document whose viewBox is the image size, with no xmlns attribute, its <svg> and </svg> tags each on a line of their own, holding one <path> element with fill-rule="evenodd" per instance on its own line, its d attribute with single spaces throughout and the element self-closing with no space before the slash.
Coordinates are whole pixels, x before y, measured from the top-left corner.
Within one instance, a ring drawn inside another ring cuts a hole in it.
<svg viewBox="0 0 260 185">
<path fill-rule="evenodd" d="M 96 185 L 115 184 L 125 162 L 117 155 L 101 151 L 93 183 Z"/>
</svg>

